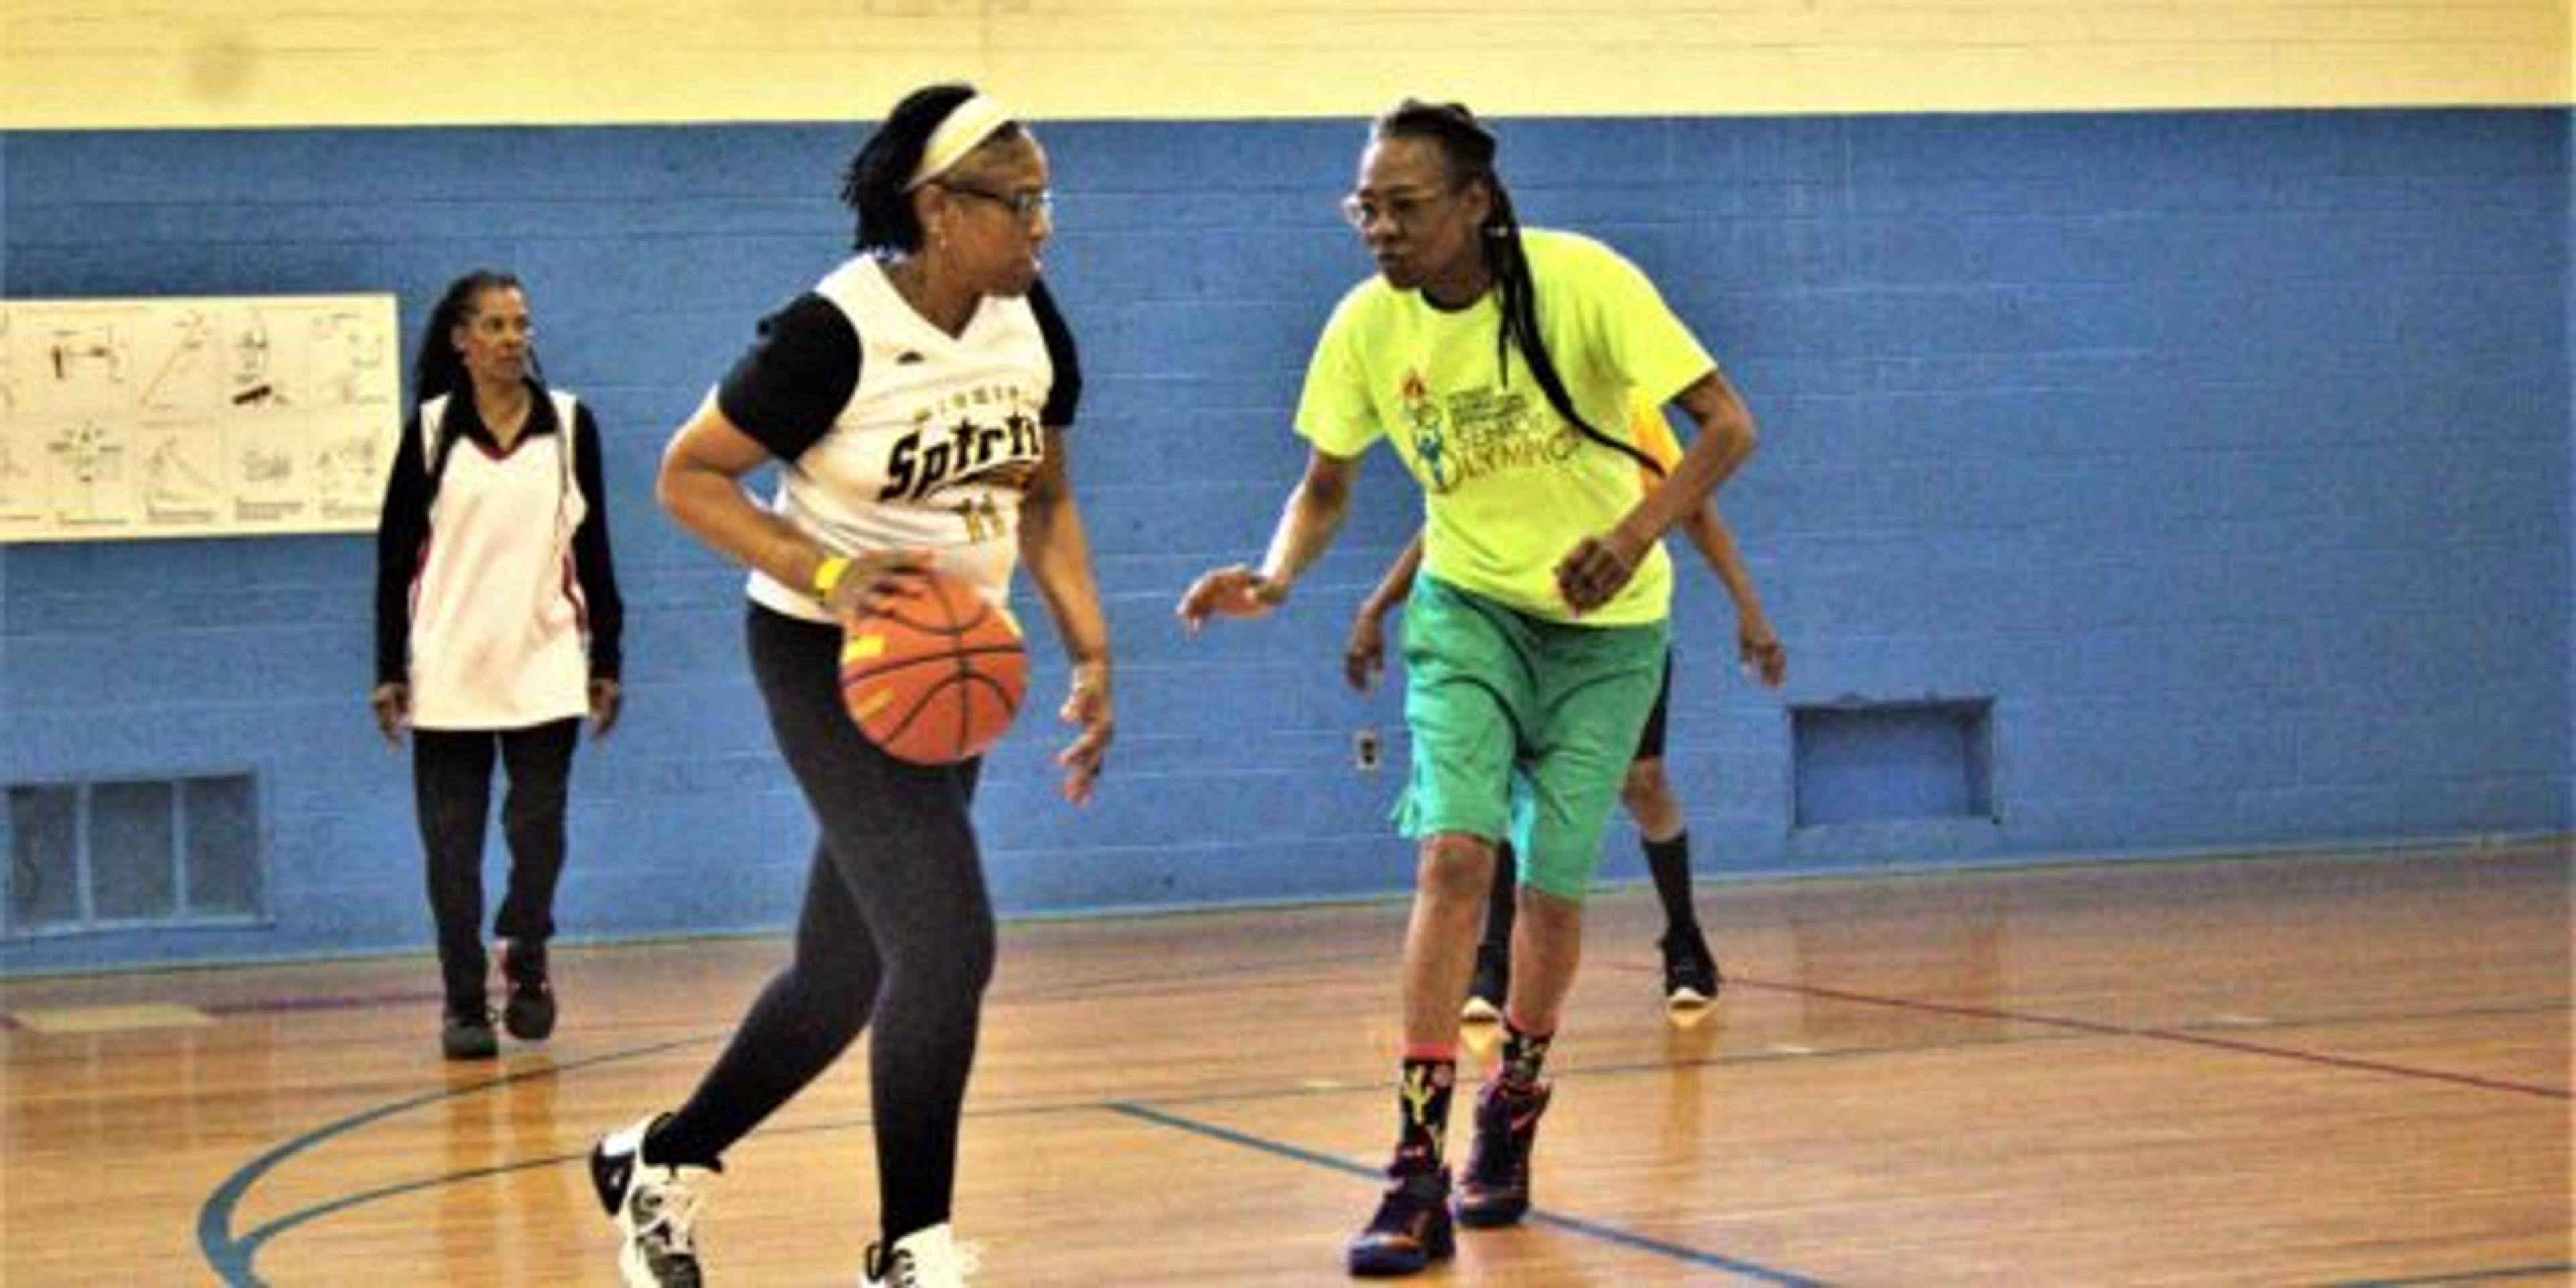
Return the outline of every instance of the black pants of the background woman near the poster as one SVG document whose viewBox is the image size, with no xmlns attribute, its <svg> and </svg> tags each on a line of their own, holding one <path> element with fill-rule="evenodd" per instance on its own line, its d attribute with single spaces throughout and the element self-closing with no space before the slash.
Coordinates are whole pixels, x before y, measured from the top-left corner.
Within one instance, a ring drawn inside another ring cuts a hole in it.
<svg viewBox="0 0 2576 1288">
<path fill-rule="evenodd" d="M 580 729 L 580 719 L 528 729 L 412 729 L 412 799 L 448 1007 L 484 1005 L 482 840 L 492 817 L 495 750 L 510 773 L 500 806 L 510 884 L 492 927 L 510 940 L 546 940 L 554 938 L 554 886 L 564 876 L 564 799 Z"/>
</svg>

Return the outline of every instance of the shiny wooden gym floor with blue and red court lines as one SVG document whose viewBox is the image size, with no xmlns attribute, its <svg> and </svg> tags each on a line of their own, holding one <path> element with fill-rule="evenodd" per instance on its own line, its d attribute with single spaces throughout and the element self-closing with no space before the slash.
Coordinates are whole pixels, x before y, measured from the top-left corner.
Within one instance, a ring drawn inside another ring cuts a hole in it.
<svg viewBox="0 0 2576 1288">
<path fill-rule="evenodd" d="M 1427 1280 L 2568 1283 L 2568 896 L 2566 842 L 1703 886 L 1728 984 L 1674 1023 L 1605 894 L 1538 1211 Z M 976 1283 L 1340 1283 L 1401 912 L 1007 925 Z M 0 1283 L 613 1283 L 582 1151 L 781 953 L 562 948 L 556 1038 L 479 1066 L 425 956 L 0 981 Z M 858 1280 L 863 1082 L 734 1149 L 719 1283 Z"/>
</svg>

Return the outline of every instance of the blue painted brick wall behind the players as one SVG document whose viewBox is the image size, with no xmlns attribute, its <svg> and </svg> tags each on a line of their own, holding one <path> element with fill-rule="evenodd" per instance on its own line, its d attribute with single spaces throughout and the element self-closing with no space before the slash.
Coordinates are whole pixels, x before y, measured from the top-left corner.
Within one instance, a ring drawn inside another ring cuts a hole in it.
<svg viewBox="0 0 2576 1288">
<path fill-rule="evenodd" d="M 2566 111 L 1515 121 L 1522 214 L 1631 252 L 1749 394 L 1726 495 L 1790 688 L 1685 574 L 1672 768 L 1713 873 L 2566 832 Z M 1401 889 L 1394 693 L 1337 683 L 1417 520 L 1383 453 L 1285 618 L 1185 639 L 1296 479 L 1306 345 L 1368 270 L 1350 124 L 1061 124 L 1051 278 L 1121 747 L 1054 801 L 994 757 L 1007 912 Z M 8 296 L 533 289 L 608 433 L 629 724 L 585 750 L 580 935 L 778 927 L 809 827 L 739 662 L 739 574 L 652 510 L 659 443 L 845 245 L 850 126 L 0 134 Z M 1247 165 L 1244 157 L 1257 162 Z M 1685 567 L 1692 564 L 1687 549 Z M 273 925 L 0 945 L 8 971 L 422 948 L 368 729 L 363 538 L 0 549 L 8 781 L 252 770 Z M 1038 623 L 1041 613 L 1028 613 Z M 1043 634 L 1043 623 L 1036 626 Z M 1785 703 L 1994 698 L 2002 824 L 1793 829 Z M 497 845 L 497 837 L 495 837 Z M 1610 876 L 1636 876 L 1613 840 Z"/>
</svg>

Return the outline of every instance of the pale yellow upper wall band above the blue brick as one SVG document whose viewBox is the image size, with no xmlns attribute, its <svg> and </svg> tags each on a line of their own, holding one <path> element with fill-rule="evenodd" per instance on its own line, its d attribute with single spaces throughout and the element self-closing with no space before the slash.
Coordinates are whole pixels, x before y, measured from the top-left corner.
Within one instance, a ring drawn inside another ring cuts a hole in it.
<svg viewBox="0 0 2576 1288">
<path fill-rule="evenodd" d="M 2566 106 L 2571 0 L 0 0 L 0 126 Z"/>
</svg>

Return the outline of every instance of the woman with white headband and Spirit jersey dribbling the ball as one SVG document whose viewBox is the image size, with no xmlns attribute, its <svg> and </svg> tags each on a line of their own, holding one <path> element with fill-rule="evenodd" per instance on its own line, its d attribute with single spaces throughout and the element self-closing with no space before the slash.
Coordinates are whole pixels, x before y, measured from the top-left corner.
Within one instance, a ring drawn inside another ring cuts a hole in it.
<svg viewBox="0 0 2576 1288">
<path fill-rule="evenodd" d="M 1038 139 L 971 85 L 907 95 L 842 183 L 858 255 L 762 319 L 662 456 L 670 515 L 752 569 L 752 677 L 822 837 L 793 961 L 677 1110 L 592 1149 L 626 1283 L 698 1283 L 698 1188 L 868 1025 L 868 1283 L 958 1283 L 958 1110 L 994 953 L 976 762 L 873 747 L 837 665 L 842 623 L 925 572 L 999 605 L 1025 562 L 1072 654 L 1064 796 L 1100 778 L 1110 644 L 1064 459 L 1082 374 L 1038 281 L 1046 180 Z M 742 477 L 770 461 L 778 495 L 757 505 Z"/>
</svg>

